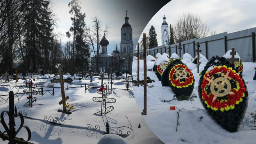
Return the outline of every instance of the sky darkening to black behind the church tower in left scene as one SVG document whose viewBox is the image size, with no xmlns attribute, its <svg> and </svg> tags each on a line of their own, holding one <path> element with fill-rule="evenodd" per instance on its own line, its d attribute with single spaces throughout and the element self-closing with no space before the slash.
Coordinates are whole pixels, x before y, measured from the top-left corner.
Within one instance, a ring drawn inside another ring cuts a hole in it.
<svg viewBox="0 0 256 144">
<path fill-rule="evenodd" d="M 69 14 L 69 2 L 71 2 L 71 0 L 52 0 L 52 11 L 59 20 L 57 22 L 58 28 L 55 28 L 55 32 L 60 32 L 62 34 L 61 42 L 63 43 L 69 40 L 73 41 L 73 38 L 68 39 L 68 37 L 66 37 L 66 32 L 72 25 L 70 17 L 74 17 L 74 15 Z M 92 25 L 92 17 L 94 16 L 97 16 L 101 20 L 103 29 L 106 24 L 109 25 L 109 34 L 106 36 L 109 41 L 108 53 L 115 50 L 116 44 L 119 48 L 121 27 L 125 22 L 124 18 L 126 17 L 126 10 L 128 11 L 129 23 L 133 29 L 133 44 L 135 51 L 135 46 L 142 30 L 152 16 L 163 6 L 159 6 L 160 3 L 158 5 L 153 5 L 153 2 L 148 0 L 81 0 L 81 2 L 81 12 L 86 14 L 85 23 L 87 26 Z M 156 1 L 154 1 L 154 3 L 156 3 Z M 156 7 L 157 11 L 154 11 L 153 9 Z M 147 10 L 150 11 L 147 12 Z"/>
</svg>

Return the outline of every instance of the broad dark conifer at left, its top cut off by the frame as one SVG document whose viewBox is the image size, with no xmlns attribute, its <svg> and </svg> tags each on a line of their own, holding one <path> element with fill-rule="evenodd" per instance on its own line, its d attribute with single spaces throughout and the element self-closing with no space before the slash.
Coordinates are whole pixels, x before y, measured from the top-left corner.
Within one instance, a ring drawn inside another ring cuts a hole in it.
<svg viewBox="0 0 256 144">
<path fill-rule="evenodd" d="M 37 67 L 44 65 L 43 51 L 46 43 L 51 39 L 52 28 L 49 24 L 51 12 L 49 11 L 50 0 L 24 0 L 25 26 L 25 47 L 28 52 L 29 68 L 32 63 L 32 71 L 36 72 Z"/>
</svg>

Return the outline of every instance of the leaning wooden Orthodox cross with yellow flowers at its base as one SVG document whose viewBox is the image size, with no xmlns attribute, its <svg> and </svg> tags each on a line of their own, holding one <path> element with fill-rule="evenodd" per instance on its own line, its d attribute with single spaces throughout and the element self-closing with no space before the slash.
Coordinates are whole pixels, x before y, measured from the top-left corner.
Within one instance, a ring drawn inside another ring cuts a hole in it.
<svg viewBox="0 0 256 144">
<path fill-rule="evenodd" d="M 60 79 L 56 79 L 56 78 L 52 79 L 52 83 L 60 83 L 62 100 L 59 102 L 59 104 L 60 105 L 62 104 L 63 110 L 59 109 L 58 112 L 64 112 L 67 114 L 71 114 L 71 112 L 68 112 L 67 108 L 66 108 L 66 101 L 69 99 L 69 97 L 65 97 L 64 83 L 71 84 L 73 80 L 70 77 L 68 77 L 67 79 L 63 79 L 62 75 L 64 74 L 64 72 L 62 72 L 63 69 L 60 65 L 58 67 L 58 71 L 59 71 L 59 73 L 57 73 L 57 75 L 60 75 Z"/>
</svg>

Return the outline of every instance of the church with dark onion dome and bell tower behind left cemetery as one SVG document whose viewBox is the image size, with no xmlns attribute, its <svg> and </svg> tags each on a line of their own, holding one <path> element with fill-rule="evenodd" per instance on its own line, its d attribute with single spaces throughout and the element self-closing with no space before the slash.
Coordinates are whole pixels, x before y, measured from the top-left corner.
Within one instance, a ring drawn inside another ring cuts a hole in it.
<svg viewBox="0 0 256 144">
<path fill-rule="evenodd" d="M 132 26 L 129 24 L 129 17 L 124 18 L 125 22 L 121 28 L 121 42 L 119 44 L 120 49 L 118 50 L 117 44 L 115 50 L 112 53 L 108 53 L 108 40 L 103 35 L 100 41 L 100 71 L 131 71 L 132 70 L 132 58 L 133 58 L 133 42 L 132 42 Z M 95 62 L 95 57 L 91 57 L 90 68 L 92 72 L 95 72 L 93 61 Z"/>
</svg>

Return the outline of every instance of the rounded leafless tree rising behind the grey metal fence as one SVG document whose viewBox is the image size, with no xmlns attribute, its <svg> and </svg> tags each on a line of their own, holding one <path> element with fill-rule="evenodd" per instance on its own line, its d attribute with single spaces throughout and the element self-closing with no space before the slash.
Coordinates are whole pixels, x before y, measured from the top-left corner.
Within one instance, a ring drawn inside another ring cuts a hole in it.
<svg viewBox="0 0 256 144">
<path fill-rule="evenodd" d="M 173 31 L 174 39 L 178 43 L 193 38 L 199 39 L 208 36 L 210 29 L 207 23 L 204 23 L 197 15 L 183 13 L 174 24 Z"/>
</svg>

